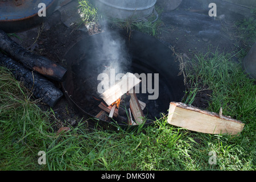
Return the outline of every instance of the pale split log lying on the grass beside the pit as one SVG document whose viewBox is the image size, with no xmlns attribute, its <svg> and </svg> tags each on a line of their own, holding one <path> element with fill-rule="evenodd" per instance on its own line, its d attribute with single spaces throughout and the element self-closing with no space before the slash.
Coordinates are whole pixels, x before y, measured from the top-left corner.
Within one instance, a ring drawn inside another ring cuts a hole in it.
<svg viewBox="0 0 256 182">
<path fill-rule="evenodd" d="M 168 123 L 188 130 L 209 134 L 236 135 L 243 130 L 244 123 L 217 113 L 200 110 L 180 102 L 171 102 Z"/>
</svg>

